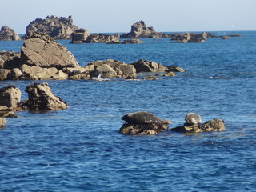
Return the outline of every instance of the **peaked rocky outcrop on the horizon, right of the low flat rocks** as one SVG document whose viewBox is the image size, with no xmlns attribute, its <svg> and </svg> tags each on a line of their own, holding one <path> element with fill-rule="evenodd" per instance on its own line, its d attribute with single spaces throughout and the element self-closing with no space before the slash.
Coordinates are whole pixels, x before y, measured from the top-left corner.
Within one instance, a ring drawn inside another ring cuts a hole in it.
<svg viewBox="0 0 256 192">
<path fill-rule="evenodd" d="M 131 26 L 130 33 L 122 34 L 120 38 L 170 38 L 170 34 L 156 32 L 153 26 L 147 27 L 140 21 Z"/>
</svg>

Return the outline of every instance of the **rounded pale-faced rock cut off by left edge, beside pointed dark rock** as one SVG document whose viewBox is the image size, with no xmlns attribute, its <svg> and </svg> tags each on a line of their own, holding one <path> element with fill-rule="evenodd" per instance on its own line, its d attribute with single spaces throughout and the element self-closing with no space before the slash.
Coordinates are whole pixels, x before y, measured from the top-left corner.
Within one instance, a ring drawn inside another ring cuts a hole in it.
<svg viewBox="0 0 256 192">
<path fill-rule="evenodd" d="M 21 97 L 22 92 L 17 87 L 3 87 L 0 89 L 0 106 L 6 106 L 9 110 L 12 111 L 18 110 L 19 103 L 21 102 Z"/>
</svg>

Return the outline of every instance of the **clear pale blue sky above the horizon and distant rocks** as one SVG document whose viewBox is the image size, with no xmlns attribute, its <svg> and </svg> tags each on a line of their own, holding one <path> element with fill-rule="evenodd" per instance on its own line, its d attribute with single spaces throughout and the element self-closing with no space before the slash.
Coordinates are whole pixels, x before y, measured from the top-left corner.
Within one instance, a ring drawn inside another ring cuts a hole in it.
<svg viewBox="0 0 256 192">
<path fill-rule="evenodd" d="M 2 1 L 0 26 L 18 34 L 35 18 L 68 17 L 90 33 L 129 32 L 143 20 L 157 31 L 256 30 L 256 0 Z"/>
</svg>

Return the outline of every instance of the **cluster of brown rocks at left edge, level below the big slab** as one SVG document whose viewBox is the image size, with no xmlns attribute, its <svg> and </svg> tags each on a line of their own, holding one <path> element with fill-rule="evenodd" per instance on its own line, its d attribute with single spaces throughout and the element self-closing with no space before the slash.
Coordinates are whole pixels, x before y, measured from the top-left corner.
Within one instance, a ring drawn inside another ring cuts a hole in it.
<svg viewBox="0 0 256 192">
<path fill-rule="evenodd" d="M 21 102 L 22 92 L 16 86 L 0 89 L 0 117 L 17 118 L 20 110 L 64 110 L 66 102 L 55 96 L 47 83 L 34 83 L 26 87 L 28 99 Z"/>
</svg>

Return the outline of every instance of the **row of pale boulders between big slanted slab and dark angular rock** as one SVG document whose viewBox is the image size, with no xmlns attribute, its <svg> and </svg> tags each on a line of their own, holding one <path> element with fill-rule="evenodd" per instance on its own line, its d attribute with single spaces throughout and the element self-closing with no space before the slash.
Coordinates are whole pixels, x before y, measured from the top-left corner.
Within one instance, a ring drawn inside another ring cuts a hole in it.
<svg viewBox="0 0 256 192">
<path fill-rule="evenodd" d="M 113 59 L 89 62 L 87 67 L 90 67 L 90 76 L 92 78 L 96 78 L 99 75 L 102 78 L 136 77 L 134 66 Z"/>
</svg>

